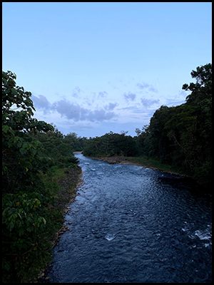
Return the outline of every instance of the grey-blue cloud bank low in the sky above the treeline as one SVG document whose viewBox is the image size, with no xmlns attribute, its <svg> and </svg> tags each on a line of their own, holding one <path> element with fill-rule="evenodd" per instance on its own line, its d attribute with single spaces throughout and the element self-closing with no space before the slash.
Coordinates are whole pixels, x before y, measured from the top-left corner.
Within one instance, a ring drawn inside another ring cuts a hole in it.
<svg viewBox="0 0 214 285">
<path fill-rule="evenodd" d="M 112 93 L 109 90 L 108 92 L 87 90 L 86 93 L 86 90 L 76 86 L 71 90 L 69 98 L 57 94 L 60 98 L 55 97 L 56 99 L 50 102 L 45 95 L 32 94 L 31 99 L 36 108 L 35 116 L 39 120 L 54 122 L 57 128 L 60 126 L 64 132 L 72 129 L 87 133 L 89 137 L 91 133 L 99 135 L 108 133 L 109 128 L 120 132 L 126 128 L 126 125 L 128 128 L 133 125 L 131 129 L 133 133 L 136 128 L 141 128 L 141 125 L 148 124 L 155 110 L 167 103 L 167 98 L 158 96 L 157 88 L 151 84 L 136 83 L 133 87 L 130 86 L 130 90 L 126 92 L 117 90 L 116 93 L 113 90 Z M 178 105 L 178 99 L 183 95 L 178 91 L 178 95 L 168 103 L 174 102 Z"/>
</svg>

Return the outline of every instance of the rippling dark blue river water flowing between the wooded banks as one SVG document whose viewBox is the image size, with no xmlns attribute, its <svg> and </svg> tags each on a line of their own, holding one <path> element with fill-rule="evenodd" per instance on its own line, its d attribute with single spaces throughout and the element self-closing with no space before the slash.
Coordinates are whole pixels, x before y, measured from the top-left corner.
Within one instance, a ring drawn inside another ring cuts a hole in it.
<svg viewBox="0 0 214 285">
<path fill-rule="evenodd" d="M 210 195 L 163 172 L 76 157 L 84 185 L 50 282 L 212 281 Z"/>
</svg>

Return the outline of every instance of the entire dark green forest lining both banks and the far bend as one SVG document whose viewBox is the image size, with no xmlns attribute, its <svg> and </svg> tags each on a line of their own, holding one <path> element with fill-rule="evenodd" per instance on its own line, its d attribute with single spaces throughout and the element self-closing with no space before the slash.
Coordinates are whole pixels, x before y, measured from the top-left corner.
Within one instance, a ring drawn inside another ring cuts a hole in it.
<svg viewBox="0 0 214 285">
<path fill-rule="evenodd" d="M 31 93 L 16 86 L 14 73 L 2 71 L 4 282 L 34 279 L 51 259 L 51 237 L 62 222 L 53 177 L 78 175 L 74 150 L 89 157 L 153 157 L 211 187 L 212 64 L 190 74 L 196 83 L 183 85 L 190 92 L 185 103 L 162 105 L 135 137 L 121 131 L 87 139 L 32 118 Z"/>
</svg>

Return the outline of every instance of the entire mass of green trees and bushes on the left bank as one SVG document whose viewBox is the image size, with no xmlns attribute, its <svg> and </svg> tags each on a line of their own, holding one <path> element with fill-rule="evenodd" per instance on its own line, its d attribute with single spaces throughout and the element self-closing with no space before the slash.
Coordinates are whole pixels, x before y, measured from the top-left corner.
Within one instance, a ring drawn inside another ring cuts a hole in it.
<svg viewBox="0 0 214 285">
<path fill-rule="evenodd" d="M 31 93 L 2 71 L 2 281 L 38 276 L 51 259 L 51 236 L 62 222 L 51 165 L 75 167 L 76 157 L 52 125 L 31 118 Z M 63 170 L 63 175 L 64 175 Z"/>
</svg>

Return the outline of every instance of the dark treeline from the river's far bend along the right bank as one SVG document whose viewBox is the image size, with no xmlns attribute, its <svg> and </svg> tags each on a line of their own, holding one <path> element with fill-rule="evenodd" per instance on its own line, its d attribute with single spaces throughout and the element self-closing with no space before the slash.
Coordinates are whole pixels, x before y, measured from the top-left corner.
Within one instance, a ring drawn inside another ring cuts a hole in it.
<svg viewBox="0 0 214 285">
<path fill-rule="evenodd" d="M 189 90 L 186 102 L 156 110 L 149 125 L 136 129 L 132 138 L 127 132 L 106 133 L 96 138 L 77 138 L 83 155 L 147 155 L 176 167 L 201 185 L 209 186 L 212 170 L 212 64 L 192 71 L 196 83 L 183 85 Z M 77 142 L 76 142 L 77 143 Z M 73 144 L 73 148 L 76 147 Z"/>
</svg>

